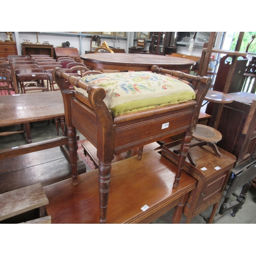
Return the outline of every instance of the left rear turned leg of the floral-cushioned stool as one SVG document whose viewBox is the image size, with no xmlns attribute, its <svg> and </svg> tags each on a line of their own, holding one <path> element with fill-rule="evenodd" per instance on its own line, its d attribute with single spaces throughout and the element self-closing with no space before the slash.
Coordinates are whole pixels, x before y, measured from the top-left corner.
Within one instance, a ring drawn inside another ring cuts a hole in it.
<svg viewBox="0 0 256 256">
<path fill-rule="evenodd" d="M 77 140 L 76 140 L 76 129 L 73 126 L 67 127 L 68 146 L 70 154 L 70 164 L 73 177 L 73 185 L 78 184 L 77 181 Z"/>
</svg>

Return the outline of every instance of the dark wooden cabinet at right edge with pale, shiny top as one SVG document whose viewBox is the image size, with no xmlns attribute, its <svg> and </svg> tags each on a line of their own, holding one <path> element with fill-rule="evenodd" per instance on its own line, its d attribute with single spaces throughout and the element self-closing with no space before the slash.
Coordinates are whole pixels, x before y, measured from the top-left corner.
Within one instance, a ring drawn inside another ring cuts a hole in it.
<svg viewBox="0 0 256 256">
<path fill-rule="evenodd" d="M 239 166 L 256 156 L 256 95 L 246 92 L 229 95 L 234 101 L 223 107 L 218 126 L 222 140 L 217 145 L 236 156 L 236 166 Z M 214 106 L 213 116 L 216 109 Z"/>
</svg>

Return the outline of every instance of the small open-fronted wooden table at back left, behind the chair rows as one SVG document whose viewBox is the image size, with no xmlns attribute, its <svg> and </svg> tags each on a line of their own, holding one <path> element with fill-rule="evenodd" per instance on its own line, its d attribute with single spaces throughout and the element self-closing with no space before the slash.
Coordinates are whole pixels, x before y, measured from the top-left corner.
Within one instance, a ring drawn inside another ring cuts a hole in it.
<svg viewBox="0 0 256 256">
<path fill-rule="evenodd" d="M 22 45 L 22 54 L 31 55 L 31 54 L 47 54 L 51 57 L 54 57 L 53 54 L 53 45 L 36 45 L 36 44 L 21 44 Z"/>
</svg>

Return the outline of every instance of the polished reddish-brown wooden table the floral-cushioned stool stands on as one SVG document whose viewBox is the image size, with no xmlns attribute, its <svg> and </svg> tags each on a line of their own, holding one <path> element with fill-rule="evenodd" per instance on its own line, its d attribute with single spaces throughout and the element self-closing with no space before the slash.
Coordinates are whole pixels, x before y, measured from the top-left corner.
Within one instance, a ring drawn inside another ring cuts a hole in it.
<svg viewBox="0 0 256 256">
<path fill-rule="evenodd" d="M 144 152 L 141 161 L 134 156 L 113 163 L 106 223 L 150 223 L 180 204 L 196 179 L 183 172 L 178 188 L 173 188 L 176 168 L 153 150 Z M 67 179 L 44 187 L 52 223 L 99 223 L 97 180 L 96 169 L 79 175 L 78 186 Z M 143 211 L 143 206 L 148 208 Z"/>
</svg>

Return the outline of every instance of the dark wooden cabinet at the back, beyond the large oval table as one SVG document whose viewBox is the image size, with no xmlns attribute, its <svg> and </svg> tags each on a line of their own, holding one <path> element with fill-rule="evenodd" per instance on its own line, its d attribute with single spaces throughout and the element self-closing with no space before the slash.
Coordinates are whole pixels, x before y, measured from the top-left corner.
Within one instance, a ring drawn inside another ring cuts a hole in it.
<svg viewBox="0 0 256 256">
<path fill-rule="evenodd" d="M 177 52 L 175 32 L 153 32 L 149 51 L 151 54 L 166 55 Z"/>
</svg>

